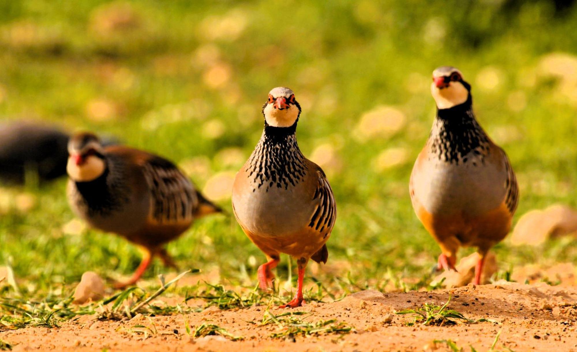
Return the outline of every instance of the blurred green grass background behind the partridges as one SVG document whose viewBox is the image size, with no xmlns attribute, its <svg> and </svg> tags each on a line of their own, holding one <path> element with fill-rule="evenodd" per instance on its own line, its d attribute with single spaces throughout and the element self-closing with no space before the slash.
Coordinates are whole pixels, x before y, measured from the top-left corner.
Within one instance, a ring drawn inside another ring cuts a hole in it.
<svg viewBox="0 0 577 352">
<path fill-rule="evenodd" d="M 230 182 L 260 136 L 260 108 L 269 89 L 290 87 L 303 110 L 299 145 L 338 203 L 332 269 L 315 275 L 419 278 L 440 253 L 408 193 L 434 117 L 432 70 L 456 66 L 473 85 L 479 122 L 518 175 L 516 220 L 577 206 L 576 49 L 577 9 L 551 1 L 6 0 L 0 117 L 118 136 L 179 163 L 231 214 Z M 0 264 L 31 290 L 88 269 L 126 275 L 140 261 L 124 239 L 73 220 L 65 183 L 0 191 Z M 575 262 L 575 244 L 505 242 L 496 253 L 506 270 Z M 168 250 L 183 268 L 218 268 L 234 283 L 254 284 L 264 261 L 233 216 L 198 221 Z M 156 263 L 147 277 L 167 270 Z"/>
</svg>

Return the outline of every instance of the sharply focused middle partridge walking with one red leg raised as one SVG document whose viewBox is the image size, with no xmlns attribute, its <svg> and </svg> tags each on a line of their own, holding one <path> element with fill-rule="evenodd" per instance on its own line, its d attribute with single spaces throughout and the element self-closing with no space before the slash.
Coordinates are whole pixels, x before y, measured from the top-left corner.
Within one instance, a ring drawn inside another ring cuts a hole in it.
<svg viewBox="0 0 577 352">
<path fill-rule="evenodd" d="M 297 294 L 282 308 L 302 305 L 306 264 L 309 259 L 327 262 L 325 243 L 336 218 L 327 177 L 298 148 L 295 131 L 300 114 L 291 89 L 269 92 L 263 106 L 263 134 L 233 185 L 234 215 L 268 259 L 258 268 L 261 289 L 273 286 L 271 269 L 279 263 L 280 253 L 297 259 Z"/>
</svg>

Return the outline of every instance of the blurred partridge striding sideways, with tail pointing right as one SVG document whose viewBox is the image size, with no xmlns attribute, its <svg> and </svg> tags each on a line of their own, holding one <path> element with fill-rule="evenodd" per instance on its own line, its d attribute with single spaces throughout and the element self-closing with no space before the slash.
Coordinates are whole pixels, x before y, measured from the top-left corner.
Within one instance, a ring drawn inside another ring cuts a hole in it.
<svg viewBox="0 0 577 352">
<path fill-rule="evenodd" d="M 96 229 L 125 237 L 144 249 L 134 284 L 154 256 L 176 267 L 164 245 L 181 235 L 194 219 L 220 212 L 170 161 L 122 146 L 102 147 L 92 133 L 68 143 L 68 200 L 73 211 Z"/>
</svg>

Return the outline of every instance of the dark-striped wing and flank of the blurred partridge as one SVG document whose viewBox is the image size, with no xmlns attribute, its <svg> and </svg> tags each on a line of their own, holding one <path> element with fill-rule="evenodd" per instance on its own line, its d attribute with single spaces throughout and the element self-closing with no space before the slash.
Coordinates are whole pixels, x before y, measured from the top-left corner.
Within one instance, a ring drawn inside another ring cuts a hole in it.
<svg viewBox="0 0 577 352">
<path fill-rule="evenodd" d="M 151 155 L 143 164 L 151 190 L 149 221 L 156 224 L 186 224 L 199 207 L 192 182 L 170 161 Z"/>
</svg>

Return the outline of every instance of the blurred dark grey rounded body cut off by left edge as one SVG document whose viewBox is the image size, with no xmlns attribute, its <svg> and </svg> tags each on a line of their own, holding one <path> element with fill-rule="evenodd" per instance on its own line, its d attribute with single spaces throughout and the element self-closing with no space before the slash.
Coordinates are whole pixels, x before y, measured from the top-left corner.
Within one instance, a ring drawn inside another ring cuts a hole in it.
<svg viewBox="0 0 577 352">
<path fill-rule="evenodd" d="M 0 125 L 0 179 L 23 184 L 27 173 L 49 181 L 66 174 L 68 134 L 38 122 Z"/>
</svg>

